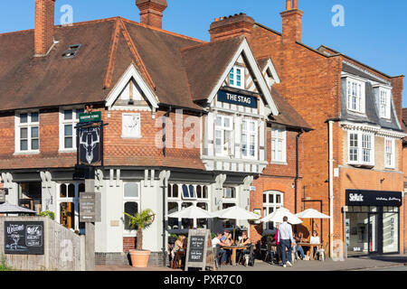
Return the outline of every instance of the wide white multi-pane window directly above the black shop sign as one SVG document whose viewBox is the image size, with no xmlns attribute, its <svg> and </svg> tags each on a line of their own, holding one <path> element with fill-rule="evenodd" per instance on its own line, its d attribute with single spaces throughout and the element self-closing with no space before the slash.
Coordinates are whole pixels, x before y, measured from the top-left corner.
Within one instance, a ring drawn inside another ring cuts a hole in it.
<svg viewBox="0 0 407 289">
<path fill-rule="evenodd" d="M 348 145 L 349 163 L 374 164 L 374 135 L 350 132 Z"/>
</svg>

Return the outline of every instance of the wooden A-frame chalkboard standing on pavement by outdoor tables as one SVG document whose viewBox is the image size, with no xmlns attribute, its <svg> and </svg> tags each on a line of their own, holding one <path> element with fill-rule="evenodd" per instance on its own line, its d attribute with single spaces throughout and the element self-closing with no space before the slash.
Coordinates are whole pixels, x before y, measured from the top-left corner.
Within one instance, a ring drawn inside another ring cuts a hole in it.
<svg viewBox="0 0 407 289">
<path fill-rule="evenodd" d="M 188 268 L 202 268 L 204 271 L 207 266 L 216 270 L 211 231 L 204 228 L 190 229 L 186 247 L 185 271 L 188 271 Z"/>
</svg>

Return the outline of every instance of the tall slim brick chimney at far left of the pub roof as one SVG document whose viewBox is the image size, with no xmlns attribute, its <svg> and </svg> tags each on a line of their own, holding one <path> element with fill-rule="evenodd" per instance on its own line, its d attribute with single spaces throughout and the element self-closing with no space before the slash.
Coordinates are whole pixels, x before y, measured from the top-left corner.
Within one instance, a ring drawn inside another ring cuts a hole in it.
<svg viewBox="0 0 407 289">
<path fill-rule="evenodd" d="M 34 56 L 47 54 L 53 44 L 55 0 L 35 0 Z"/>
</svg>

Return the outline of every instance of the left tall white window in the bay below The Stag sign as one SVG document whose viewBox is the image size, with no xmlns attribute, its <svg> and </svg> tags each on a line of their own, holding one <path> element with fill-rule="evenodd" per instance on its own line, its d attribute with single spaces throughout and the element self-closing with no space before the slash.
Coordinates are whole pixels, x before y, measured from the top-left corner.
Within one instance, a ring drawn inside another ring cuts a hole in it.
<svg viewBox="0 0 407 289">
<path fill-rule="evenodd" d="M 230 156 L 233 154 L 233 122 L 232 117 L 217 116 L 215 122 L 216 155 Z"/>
</svg>

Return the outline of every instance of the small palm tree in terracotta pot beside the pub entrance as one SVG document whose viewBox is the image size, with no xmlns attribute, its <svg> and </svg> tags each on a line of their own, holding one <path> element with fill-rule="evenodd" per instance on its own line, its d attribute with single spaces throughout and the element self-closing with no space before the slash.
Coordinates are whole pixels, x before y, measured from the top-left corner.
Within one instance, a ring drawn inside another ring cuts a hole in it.
<svg viewBox="0 0 407 289">
<path fill-rule="evenodd" d="M 156 215 L 150 209 L 143 210 L 134 215 L 129 215 L 126 212 L 124 214 L 128 216 L 129 227 L 137 229 L 136 249 L 129 251 L 131 265 L 134 267 L 147 267 L 151 251 L 143 250 L 143 229 L 148 228 L 154 222 Z"/>
</svg>

